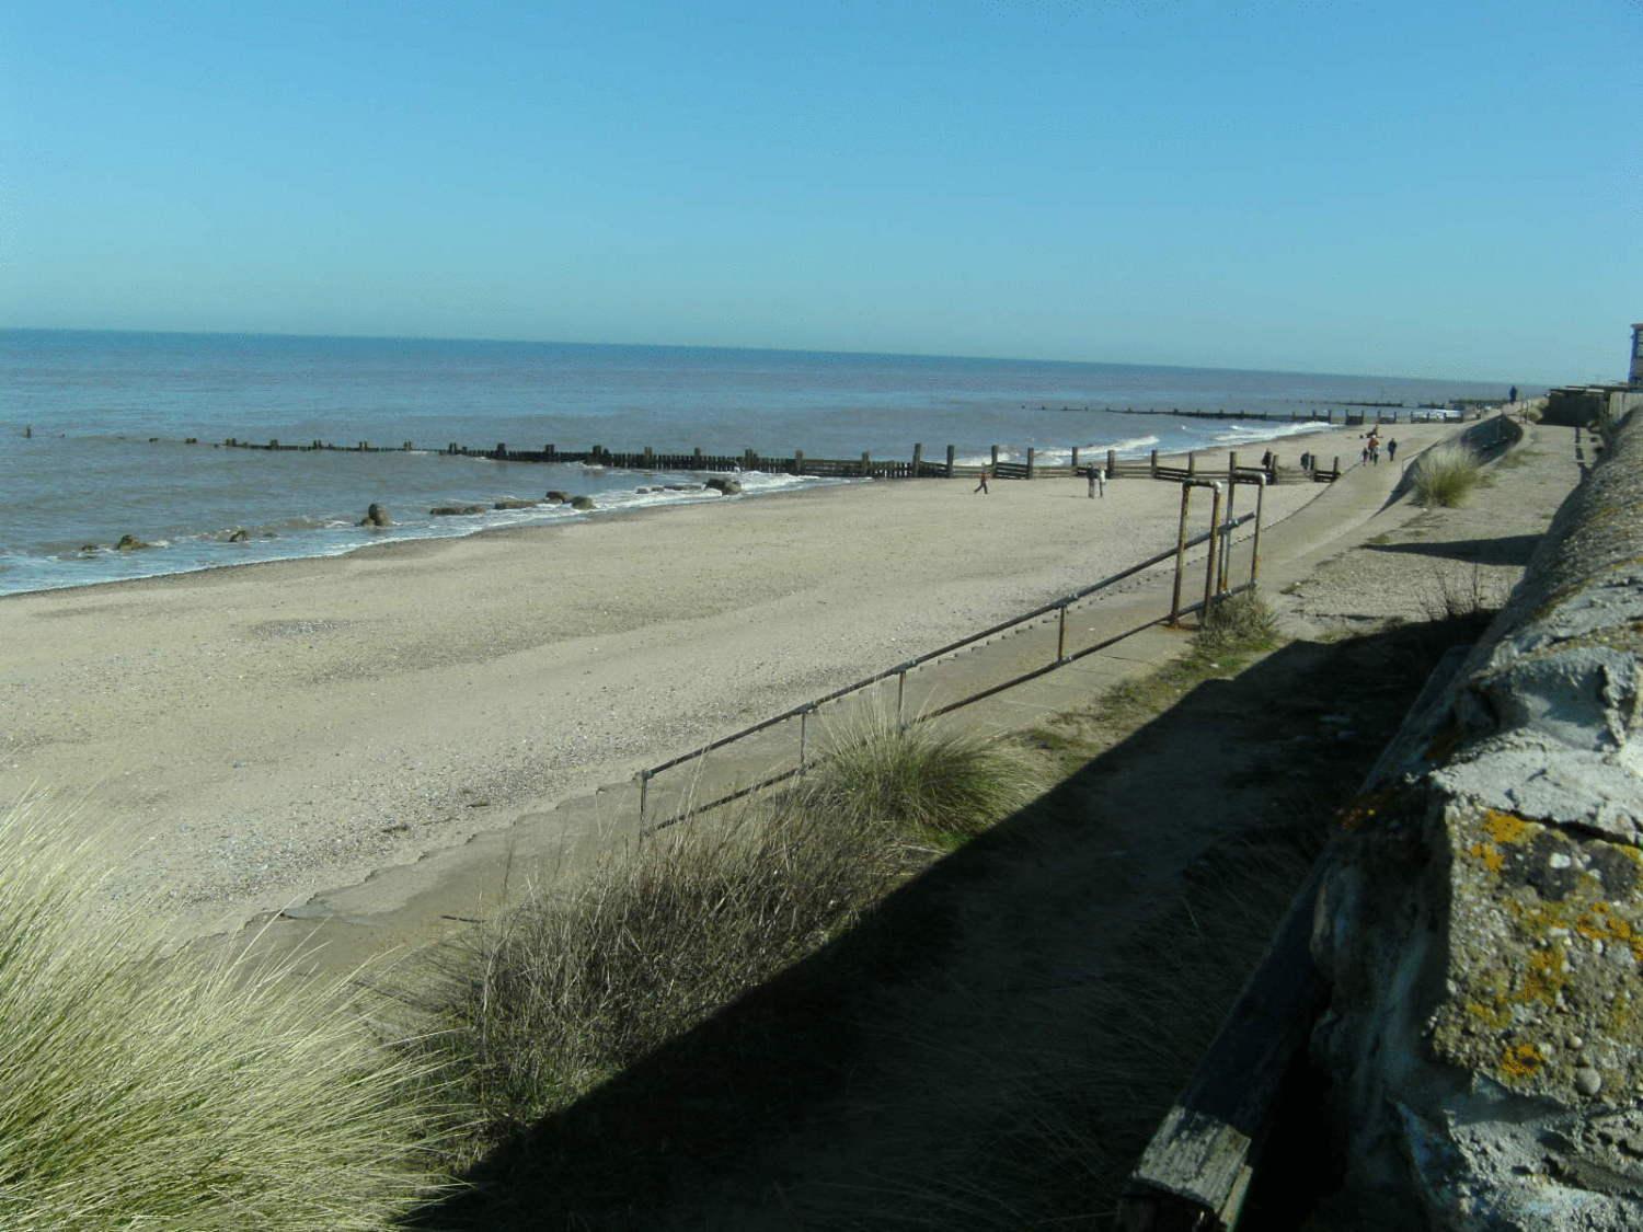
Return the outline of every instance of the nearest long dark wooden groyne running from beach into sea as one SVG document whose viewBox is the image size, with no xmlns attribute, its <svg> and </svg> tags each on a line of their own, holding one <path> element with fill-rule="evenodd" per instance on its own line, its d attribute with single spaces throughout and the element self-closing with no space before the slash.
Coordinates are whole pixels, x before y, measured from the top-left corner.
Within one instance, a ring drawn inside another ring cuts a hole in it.
<svg viewBox="0 0 1643 1232">
<path fill-rule="evenodd" d="M 194 437 L 189 437 L 186 444 L 192 445 L 199 442 Z M 399 445 L 373 445 L 368 440 L 360 440 L 353 445 L 335 445 L 324 440 L 311 440 L 306 444 L 269 440 L 261 444 L 228 437 L 222 442 L 222 447 L 289 453 L 416 452 L 416 445 L 409 440 Z M 1240 462 L 1237 450 L 1229 450 L 1226 453 L 1226 463 L 1222 465 L 1219 460 L 1221 453 L 1211 450 L 1204 450 L 1206 457 L 1201 462 L 1199 453 L 1168 455 L 1160 458 L 1158 450 L 1152 450 L 1152 453 L 1145 458 L 1119 458 L 1117 450 L 1084 450 L 1076 445 L 1068 450 L 1068 460 L 1065 463 L 1040 462 L 1038 450 L 1035 447 L 1027 450 L 1025 460 L 1004 460 L 1001 457 L 1002 450 L 999 445 L 992 445 L 991 457 L 984 463 L 960 463 L 956 460 L 956 447 L 953 445 L 946 447 L 946 453 L 940 462 L 932 462 L 925 458 L 922 444 L 914 445 L 910 462 L 900 458 L 874 458 L 871 452 L 863 452 L 858 458 L 813 458 L 807 457 L 803 450 L 794 450 L 785 457 L 771 457 L 751 448 L 741 453 L 705 453 L 700 448 L 695 448 L 690 453 L 660 453 L 654 448 L 616 452 L 608 450 L 603 445 L 595 445 L 588 450 L 562 450 L 557 445 L 547 444 L 539 450 L 521 450 L 509 448 L 506 442 L 498 442 L 495 448 L 475 448 L 472 445 L 450 442 L 444 448 L 424 452 L 458 458 L 608 467 L 611 470 L 660 470 L 687 473 L 762 471 L 766 475 L 807 475 L 815 478 L 840 480 L 951 480 L 979 478 L 983 475 L 996 480 L 1052 480 L 1083 476 L 1088 475 L 1091 468 L 1099 468 L 1111 480 L 1142 478 L 1165 480 L 1168 483 L 1217 476 L 1249 478 L 1252 475 L 1265 475 L 1267 483 L 1332 483 L 1341 476 L 1339 457 L 1326 460 L 1311 453 L 1301 453 L 1298 465 L 1285 465 L 1272 450 L 1263 452 L 1262 463 L 1259 467 L 1250 467 L 1249 463 Z"/>
</svg>

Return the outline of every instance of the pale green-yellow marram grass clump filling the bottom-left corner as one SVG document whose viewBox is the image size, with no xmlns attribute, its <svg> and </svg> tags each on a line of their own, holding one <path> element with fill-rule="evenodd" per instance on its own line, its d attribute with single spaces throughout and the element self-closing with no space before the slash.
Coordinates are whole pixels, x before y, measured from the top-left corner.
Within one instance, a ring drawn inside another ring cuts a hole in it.
<svg viewBox="0 0 1643 1232">
<path fill-rule="evenodd" d="M 427 1066 L 345 981 L 169 951 L 59 833 L 0 818 L 0 1229 L 391 1227 L 432 1181 Z"/>
</svg>

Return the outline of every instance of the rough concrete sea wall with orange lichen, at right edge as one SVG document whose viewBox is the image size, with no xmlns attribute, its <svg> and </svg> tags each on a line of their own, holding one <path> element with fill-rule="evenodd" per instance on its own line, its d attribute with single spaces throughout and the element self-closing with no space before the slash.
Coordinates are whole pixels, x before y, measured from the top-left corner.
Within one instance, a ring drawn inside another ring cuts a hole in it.
<svg viewBox="0 0 1643 1232">
<path fill-rule="evenodd" d="M 1323 874 L 1313 1055 L 1383 1225 L 1643 1225 L 1640 662 L 1633 412 Z"/>
</svg>

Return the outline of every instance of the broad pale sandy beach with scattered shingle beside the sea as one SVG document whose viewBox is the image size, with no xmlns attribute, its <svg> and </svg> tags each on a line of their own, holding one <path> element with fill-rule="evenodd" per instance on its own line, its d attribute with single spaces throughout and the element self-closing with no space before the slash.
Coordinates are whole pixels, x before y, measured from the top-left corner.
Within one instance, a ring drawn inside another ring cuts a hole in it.
<svg viewBox="0 0 1643 1232">
<path fill-rule="evenodd" d="M 1413 447 L 1443 425 L 1405 429 Z M 1331 439 L 1332 437 L 1332 439 Z M 1357 432 L 1308 437 L 1354 457 Z M 1288 450 L 1300 445 L 1290 442 Z M 1173 544 L 1178 488 L 871 483 L 0 601 L 0 802 L 228 928 Z M 1283 485 L 1268 522 L 1319 494 Z"/>
</svg>

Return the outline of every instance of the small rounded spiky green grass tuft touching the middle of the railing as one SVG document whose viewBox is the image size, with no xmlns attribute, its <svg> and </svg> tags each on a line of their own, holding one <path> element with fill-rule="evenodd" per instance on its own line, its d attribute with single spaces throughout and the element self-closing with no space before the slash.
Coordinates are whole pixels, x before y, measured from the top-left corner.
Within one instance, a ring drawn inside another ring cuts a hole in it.
<svg viewBox="0 0 1643 1232">
<path fill-rule="evenodd" d="M 825 756 L 794 795 L 808 811 L 851 825 L 964 839 L 1038 788 L 1040 772 L 1012 746 L 937 721 L 902 726 L 868 710 L 828 731 Z"/>
</svg>

